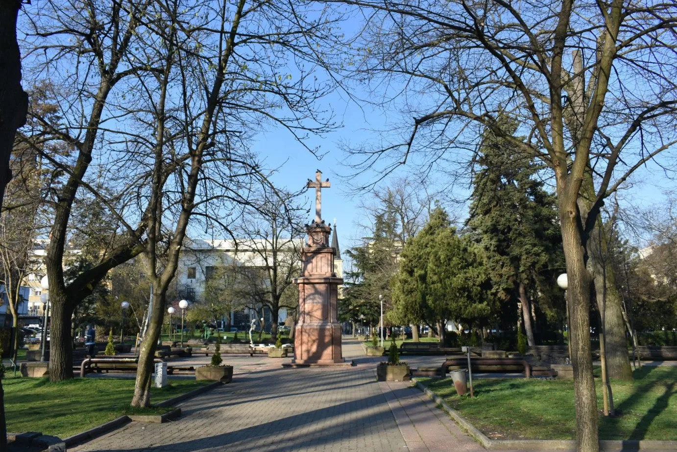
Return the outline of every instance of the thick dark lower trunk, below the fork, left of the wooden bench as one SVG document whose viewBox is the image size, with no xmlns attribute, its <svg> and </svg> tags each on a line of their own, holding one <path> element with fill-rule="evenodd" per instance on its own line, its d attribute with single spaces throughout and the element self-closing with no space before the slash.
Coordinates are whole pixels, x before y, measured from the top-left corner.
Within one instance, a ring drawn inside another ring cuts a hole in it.
<svg viewBox="0 0 677 452">
<path fill-rule="evenodd" d="M 49 381 L 62 382 L 73 377 L 73 339 L 70 335 L 73 311 L 66 302 L 65 293 L 57 295 L 56 291 L 50 290 L 49 305 Z M 47 334 L 46 328 L 43 334 Z"/>
</svg>

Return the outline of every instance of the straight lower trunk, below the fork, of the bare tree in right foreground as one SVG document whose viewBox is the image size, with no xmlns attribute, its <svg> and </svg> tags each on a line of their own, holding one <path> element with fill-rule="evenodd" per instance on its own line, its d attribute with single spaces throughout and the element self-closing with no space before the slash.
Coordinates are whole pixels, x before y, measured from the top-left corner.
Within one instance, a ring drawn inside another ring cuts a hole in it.
<svg viewBox="0 0 677 452">
<path fill-rule="evenodd" d="M 584 246 L 578 221 L 579 212 L 571 209 L 560 194 L 562 244 L 569 276 L 571 364 L 576 415 L 576 449 L 578 452 L 598 452 L 597 397 L 592 375 L 590 350 L 590 291 L 592 277 L 586 268 Z"/>
</svg>

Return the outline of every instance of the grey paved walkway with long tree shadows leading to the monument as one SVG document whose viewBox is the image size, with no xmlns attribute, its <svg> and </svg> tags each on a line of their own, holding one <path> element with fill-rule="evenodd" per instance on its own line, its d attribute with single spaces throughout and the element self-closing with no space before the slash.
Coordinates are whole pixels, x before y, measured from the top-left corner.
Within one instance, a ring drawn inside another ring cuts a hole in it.
<svg viewBox="0 0 677 452">
<path fill-rule="evenodd" d="M 74 451 L 483 451 L 422 392 L 375 381 L 374 362 L 344 342 L 356 367 L 250 368 L 179 405 L 167 424 L 132 422 Z"/>
</svg>

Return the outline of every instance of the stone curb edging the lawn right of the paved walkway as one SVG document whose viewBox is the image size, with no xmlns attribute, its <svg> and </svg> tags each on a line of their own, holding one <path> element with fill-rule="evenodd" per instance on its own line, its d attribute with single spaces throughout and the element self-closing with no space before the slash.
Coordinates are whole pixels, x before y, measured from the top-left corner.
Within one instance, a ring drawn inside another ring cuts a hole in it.
<svg viewBox="0 0 677 452">
<path fill-rule="evenodd" d="M 488 450 L 521 450 L 521 451 L 566 451 L 575 452 L 576 442 L 574 440 L 493 440 L 487 438 L 480 432 L 468 419 L 462 417 L 458 411 L 447 404 L 443 398 L 429 390 L 416 378 L 412 378 L 413 386 L 416 386 L 435 403 L 447 412 L 449 417 L 456 421 L 470 436 Z M 619 451 L 664 451 L 677 452 L 677 441 L 659 441 L 659 440 L 601 440 L 599 442 L 600 451 L 619 452 Z"/>
</svg>

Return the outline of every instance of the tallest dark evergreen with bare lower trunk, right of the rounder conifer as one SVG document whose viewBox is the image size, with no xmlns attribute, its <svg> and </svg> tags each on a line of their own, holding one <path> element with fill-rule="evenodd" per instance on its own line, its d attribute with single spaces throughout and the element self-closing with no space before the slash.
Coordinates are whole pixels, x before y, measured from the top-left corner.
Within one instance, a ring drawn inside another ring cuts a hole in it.
<svg viewBox="0 0 677 452">
<path fill-rule="evenodd" d="M 511 133 L 517 131 L 517 123 L 504 117 L 499 121 Z M 494 295 L 508 306 L 521 303 L 531 346 L 536 344 L 533 302 L 550 321 L 565 318 L 562 294 L 554 287 L 564 256 L 556 199 L 538 178 L 541 166 L 523 161 L 512 147 L 485 131 L 467 224 L 487 257 Z"/>
</svg>

